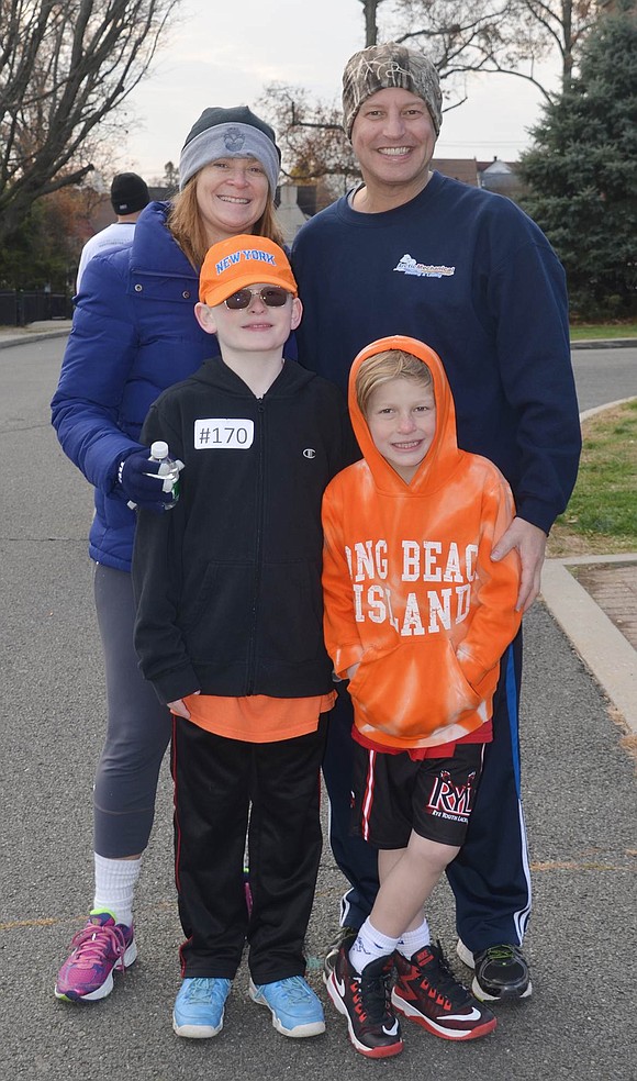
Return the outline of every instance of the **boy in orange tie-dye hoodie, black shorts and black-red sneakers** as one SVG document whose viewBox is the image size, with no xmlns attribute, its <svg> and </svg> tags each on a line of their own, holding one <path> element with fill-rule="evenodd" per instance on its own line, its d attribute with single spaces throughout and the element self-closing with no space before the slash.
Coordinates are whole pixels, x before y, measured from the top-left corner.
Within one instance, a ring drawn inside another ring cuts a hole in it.
<svg viewBox="0 0 637 1081">
<path fill-rule="evenodd" d="M 469 825 L 519 626 L 519 562 L 490 558 L 513 497 L 491 461 L 458 448 L 433 349 L 401 335 L 367 346 L 349 411 L 364 457 L 323 500 L 325 638 L 349 679 L 353 823 L 379 849 L 381 885 L 327 990 L 356 1050 L 383 1058 L 403 1046 L 394 1008 L 445 1039 L 495 1027 L 431 944 L 423 905 Z"/>
</svg>

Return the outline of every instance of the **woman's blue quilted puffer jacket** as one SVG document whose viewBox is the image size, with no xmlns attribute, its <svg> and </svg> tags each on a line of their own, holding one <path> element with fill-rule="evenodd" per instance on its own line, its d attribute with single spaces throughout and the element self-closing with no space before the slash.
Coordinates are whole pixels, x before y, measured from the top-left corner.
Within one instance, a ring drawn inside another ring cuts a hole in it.
<svg viewBox="0 0 637 1081">
<path fill-rule="evenodd" d="M 118 570 L 131 569 L 135 530 L 118 466 L 161 391 L 217 352 L 194 317 L 198 275 L 166 227 L 168 207 L 149 203 L 130 248 L 88 264 L 52 402 L 65 454 L 96 489 L 89 554 Z"/>
</svg>

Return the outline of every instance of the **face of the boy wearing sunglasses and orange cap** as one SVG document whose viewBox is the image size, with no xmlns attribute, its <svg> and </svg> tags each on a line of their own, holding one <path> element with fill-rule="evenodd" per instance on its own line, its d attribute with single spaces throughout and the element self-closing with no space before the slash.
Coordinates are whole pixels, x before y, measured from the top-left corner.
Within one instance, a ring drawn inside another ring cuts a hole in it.
<svg viewBox="0 0 637 1081">
<path fill-rule="evenodd" d="M 233 355 L 245 353 L 270 354 L 281 349 L 297 330 L 303 311 L 298 297 L 288 293 L 281 308 L 270 308 L 264 303 L 260 290 L 268 282 L 256 281 L 250 285 L 252 299 L 247 308 L 231 311 L 225 303 L 209 308 L 197 304 L 195 314 L 200 325 L 209 334 L 216 334 L 220 345 Z"/>
</svg>

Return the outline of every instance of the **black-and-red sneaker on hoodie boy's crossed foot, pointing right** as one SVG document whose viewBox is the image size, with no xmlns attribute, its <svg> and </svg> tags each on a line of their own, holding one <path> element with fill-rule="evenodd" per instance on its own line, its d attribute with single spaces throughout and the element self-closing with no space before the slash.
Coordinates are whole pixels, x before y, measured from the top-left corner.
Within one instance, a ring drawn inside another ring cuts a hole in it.
<svg viewBox="0 0 637 1081">
<path fill-rule="evenodd" d="M 409 959 L 396 950 L 394 965 L 395 1008 L 434 1036 L 479 1039 L 495 1028 L 495 1017 L 456 979 L 439 944 L 423 946 Z"/>
</svg>

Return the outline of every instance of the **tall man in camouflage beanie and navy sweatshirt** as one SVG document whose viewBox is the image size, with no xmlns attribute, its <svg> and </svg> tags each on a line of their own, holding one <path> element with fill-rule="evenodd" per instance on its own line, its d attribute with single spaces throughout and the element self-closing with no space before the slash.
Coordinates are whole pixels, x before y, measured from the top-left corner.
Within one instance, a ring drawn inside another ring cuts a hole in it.
<svg viewBox="0 0 637 1081">
<path fill-rule="evenodd" d="M 305 305 L 299 353 L 344 391 L 354 357 L 371 338 L 406 334 L 445 358 L 458 445 L 490 458 L 513 489 L 516 517 L 494 557 L 517 549 L 523 611 L 539 591 L 547 534 L 567 505 L 581 444 L 565 272 L 546 236 L 510 199 L 432 168 L 442 103 L 438 73 L 422 53 L 390 42 L 347 62 L 344 127 L 362 181 L 294 241 Z M 459 956 L 474 969 L 473 993 L 492 1000 L 530 994 L 521 949 L 530 912 L 521 676 L 518 634 L 501 661 L 493 743 L 471 826 L 447 870 Z M 324 776 L 332 846 L 351 889 L 328 969 L 343 937 L 351 939 L 369 915 L 378 888 L 376 852 L 348 835 L 350 727 L 351 711 L 339 699 Z"/>
</svg>

